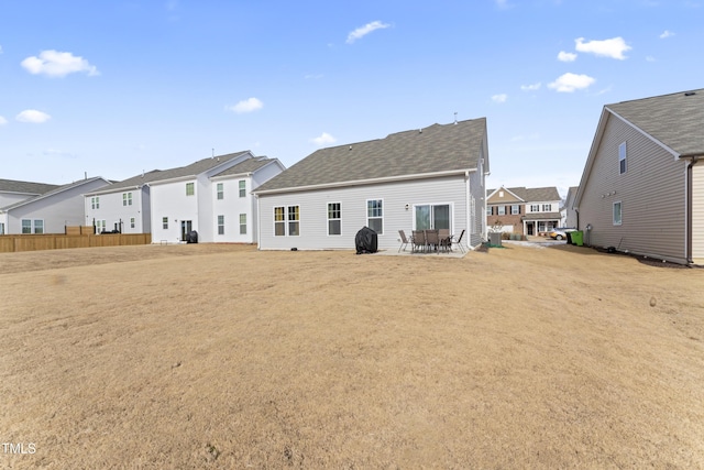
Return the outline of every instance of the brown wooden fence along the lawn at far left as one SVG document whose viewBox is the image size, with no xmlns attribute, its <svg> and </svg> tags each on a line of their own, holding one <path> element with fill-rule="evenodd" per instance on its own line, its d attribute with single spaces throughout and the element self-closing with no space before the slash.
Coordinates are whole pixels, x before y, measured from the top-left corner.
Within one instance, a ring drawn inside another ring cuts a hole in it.
<svg viewBox="0 0 704 470">
<path fill-rule="evenodd" d="M 127 244 L 150 244 L 151 242 L 151 233 L 8 234 L 0 236 L 0 253 L 59 250 L 63 248 L 120 247 Z"/>
</svg>

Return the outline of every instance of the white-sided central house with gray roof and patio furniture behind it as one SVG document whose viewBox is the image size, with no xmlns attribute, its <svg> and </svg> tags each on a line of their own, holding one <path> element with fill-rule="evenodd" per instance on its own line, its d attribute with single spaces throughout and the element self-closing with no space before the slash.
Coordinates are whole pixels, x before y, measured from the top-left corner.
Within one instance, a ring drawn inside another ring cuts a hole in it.
<svg viewBox="0 0 704 470">
<path fill-rule="evenodd" d="M 254 190 L 261 250 L 354 249 L 370 227 L 380 249 L 399 230 L 448 228 L 462 243 L 486 239 L 486 119 L 321 149 Z"/>
</svg>

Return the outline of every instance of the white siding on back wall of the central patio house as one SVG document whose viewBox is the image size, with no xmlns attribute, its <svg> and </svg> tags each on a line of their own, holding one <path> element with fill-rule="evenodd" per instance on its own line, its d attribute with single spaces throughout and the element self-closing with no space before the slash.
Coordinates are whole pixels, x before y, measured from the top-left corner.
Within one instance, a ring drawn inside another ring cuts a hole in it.
<svg viewBox="0 0 704 470">
<path fill-rule="evenodd" d="M 479 186 L 479 185 L 477 185 Z M 481 194 L 484 188 L 477 188 Z M 468 229 L 468 192 L 464 175 L 453 177 L 352 186 L 284 195 L 261 195 L 260 249 L 301 250 L 348 249 L 354 250 L 356 232 L 367 225 L 366 201 L 383 199 L 384 232 L 378 236 L 380 249 L 397 249 L 400 245 L 398 230 L 407 234 L 413 230 L 413 206 L 417 204 L 452 203 L 452 232 Z M 328 236 L 328 203 L 341 205 L 340 236 Z M 300 236 L 274 236 L 274 207 L 300 207 Z M 408 209 L 406 208 L 408 206 Z M 477 204 L 479 207 L 483 207 Z M 480 217 L 482 212 L 477 212 Z M 479 222 L 480 227 L 482 222 Z M 468 233 L 470 230 L 468 230 Z M 466 243 L 466 237 L 464 242 Z"/>
</svg>

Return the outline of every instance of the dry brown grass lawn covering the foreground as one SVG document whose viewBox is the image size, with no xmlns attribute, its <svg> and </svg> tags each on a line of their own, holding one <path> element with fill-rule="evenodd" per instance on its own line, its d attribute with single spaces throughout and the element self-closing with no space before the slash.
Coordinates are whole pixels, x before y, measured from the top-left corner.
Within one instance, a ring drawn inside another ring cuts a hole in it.
<svg viewBox="0 0 704 470">
<path fill-rule="evenodd" d="M 198 244 L 0 272 L 0 440 L 36 449 L 2 468 L 704 467 L 704 270 Z"/>
</svg>

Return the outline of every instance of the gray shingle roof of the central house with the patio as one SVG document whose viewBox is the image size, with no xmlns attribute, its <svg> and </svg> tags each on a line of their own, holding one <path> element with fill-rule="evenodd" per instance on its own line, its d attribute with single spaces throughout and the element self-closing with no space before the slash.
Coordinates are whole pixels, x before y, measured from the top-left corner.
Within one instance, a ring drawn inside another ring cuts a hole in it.
<svg viewBox="0 0 704 470">
<path fill-rule="evenodd" d="M 254 193 L 473 170 L 485 136 L 486 118 L 480 118 L 321 149 Z"/>
</svg>

